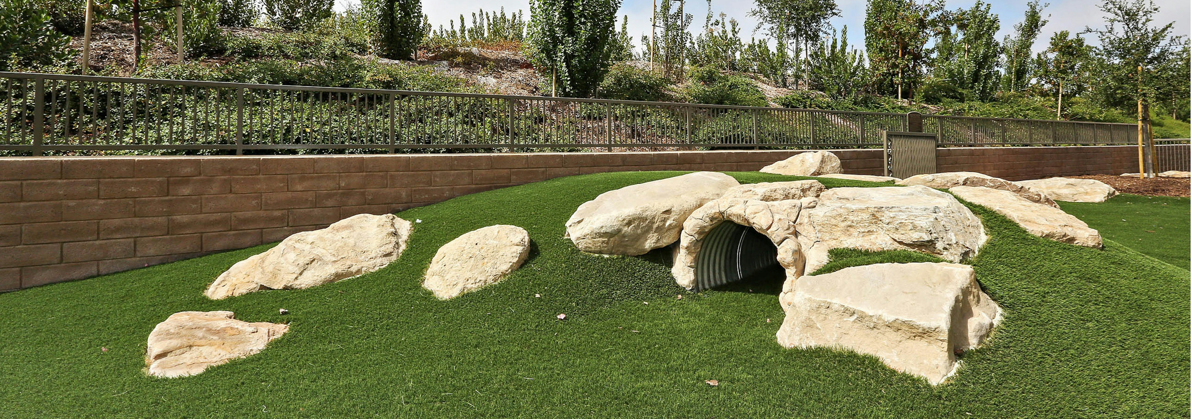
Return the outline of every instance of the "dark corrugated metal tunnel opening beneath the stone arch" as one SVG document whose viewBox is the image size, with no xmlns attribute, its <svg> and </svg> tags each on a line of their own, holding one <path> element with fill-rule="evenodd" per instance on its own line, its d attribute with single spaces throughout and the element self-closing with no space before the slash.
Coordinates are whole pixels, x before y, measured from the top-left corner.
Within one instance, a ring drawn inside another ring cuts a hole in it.
<svg viewBox="0 0 1192 419">
<path fill-rule="evenodd" d="M 695 264 L 695 292 L 737 282 L 781 289 L 783 280 L 778 249 L 757 230 L 724 221 L 703 238 Z"/>
</svg>

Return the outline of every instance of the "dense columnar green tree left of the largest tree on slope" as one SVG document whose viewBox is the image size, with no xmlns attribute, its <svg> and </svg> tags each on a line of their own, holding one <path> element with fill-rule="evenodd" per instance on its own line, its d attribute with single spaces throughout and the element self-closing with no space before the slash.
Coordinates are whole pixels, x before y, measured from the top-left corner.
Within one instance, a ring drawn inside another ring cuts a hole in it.
<svg viewBox="0 0 1192 419">
<path fill-rule="evenodd" d="M 421 0 L 366 0 L 365 10 L 381 57 L 409 60 L 427 37 Z"/>
</svg>

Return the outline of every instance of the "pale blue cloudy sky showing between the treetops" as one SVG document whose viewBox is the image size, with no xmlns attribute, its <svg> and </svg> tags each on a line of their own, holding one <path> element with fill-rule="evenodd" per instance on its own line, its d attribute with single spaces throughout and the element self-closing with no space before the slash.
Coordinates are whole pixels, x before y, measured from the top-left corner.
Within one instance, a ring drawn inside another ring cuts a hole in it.
<svg viewBox="0 0 1192 419">
<path fill-rule="evenodd" d="M 347 2 L 358 0 L 337 0 L 340 7 Z M 948 8 L 955 10 L 958 7 L 971 7 L 975 1 L 948 1 Z M 621 15 L 629 17 L 629 35 L 633 36 L 634 40 L 641 35 L 650 31 L 650 10 L 652 6 L 652 0 L 625 0 L 621 4 L 621 10 L 617 12 L 617 27 L 620 27 Z M 992 11 L 1001 18 L 1001 32 L 998 33 L 998 38 L 1001 39 L 1002 36 L 1011 33 L 1016 23 L 1020 21 L 1023 18 L 1023 11 L 1026 10 L 1026 0 L 1013 0 L 1013 1 L 991 1 L 993 5 Z M 1155 4 L 1160 7 L 1159 18 L 1156 21 L 1161 24 L 1167 24 L 1174 21 L 1174 33 L 1175 35 L 1188 35 L 1188 21 L 1190 15 L 1192 15 L 1192 6 L 1190 6 L 1188 0 L 1155 0 Z M 865 0 L 837 0 L 837 5 L 840 7 L 840 17 L 832 19 L 832 25 L 840 29 L 844 25 L 849 26 L 849 40 L 857 48 L 864 49 L 864 35 L 863 25 L 865 20 Z M 528 0 L 454 0 L 454 1 L 423 1 L 422 10 L 423 13 L 430 19 L 430 23 L 437 27 L 440 24 L 447 26 L 447 21 L 458 18 L 460 13 L 471 15 L 479 8 L 486 11 L 499 10 L 504 6 L 505 11 L 517 11 L 523 10 L 529 13 L 529 1 Z M 712 11 L 713 13 L 725 12 L 730 18 L 735 18 L 740 23 L 741 38 L 746 42 L 753 35 L 753 29 L 757 26 L 757 20 L 749 17 L 750 8 L 753 7 L 752 1 L 726 1 L 726 0 L 713 0 Z M 707 2 L 701 0 L 687 2 L 687 12 L 695 17 L 695 21 L 691 24 L 693 30 L 700 30 L 703 27 L 703 19 L 707 14 Z M 1039 36 L 1042 42 L 1035 43 L 1036 50 L 1042 50 L 1045 48 L 1047 39 L 1051 37 L 1051 33 L 1061 30 L 1068 30 L 1073 32 L 1079 32 L 1085 29 L 1085 26 L 1099 27 L 1103 25 L 1103 17 L 1100 11 L 1097 8 L 1097 1 L 1094 0 L 1053 0 L 1050 6 L 1044 11 L 1044 14 L 1050 14 L 1050 21 L 1043 27 L 1043 33 Z M 764 30 L 759 30 L 756 36 L 758 38 L 765 37 Z M 1089 39 L 1095 43 L 1095 39 Z"/>
</svg>

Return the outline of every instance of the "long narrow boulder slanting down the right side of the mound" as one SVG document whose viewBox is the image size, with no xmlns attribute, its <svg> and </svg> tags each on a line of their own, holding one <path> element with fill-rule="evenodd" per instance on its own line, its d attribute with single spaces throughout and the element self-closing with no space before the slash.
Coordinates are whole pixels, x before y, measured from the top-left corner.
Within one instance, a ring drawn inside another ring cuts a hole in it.
<svg viewBox="0 0 1192 419">
<path fill-rule="evenodd" d="M 1031 202 L 1020 195 L 986 187 L 948 189 L 960 199 L 985 206 L 1026 229 L 1031 234 L 1088 248 L 1101 246 L 1101 234 L 1063 210 Z"/>
</svg>

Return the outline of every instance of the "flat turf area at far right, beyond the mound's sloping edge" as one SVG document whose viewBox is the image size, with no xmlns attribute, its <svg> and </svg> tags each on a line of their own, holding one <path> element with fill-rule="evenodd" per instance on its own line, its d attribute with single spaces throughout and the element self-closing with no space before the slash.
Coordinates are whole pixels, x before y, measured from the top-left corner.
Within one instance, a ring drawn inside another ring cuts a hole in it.
<svg viewBox="0 0 1192 419">
<path fill-rule="evenodd" d="M 1188 199 L 1117 195 L 1105 202 L 1058 202 L 1101 237 L 1188 269 Z"/>
</svg>

